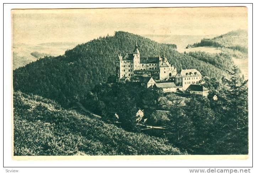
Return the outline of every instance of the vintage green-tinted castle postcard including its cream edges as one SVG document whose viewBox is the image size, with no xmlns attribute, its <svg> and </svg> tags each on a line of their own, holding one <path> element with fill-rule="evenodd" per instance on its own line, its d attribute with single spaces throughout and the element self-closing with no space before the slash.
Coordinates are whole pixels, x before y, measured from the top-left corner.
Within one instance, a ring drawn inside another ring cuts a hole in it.
<svg viewBox="0 0 256 174">
<path fill-rule="evenodd" d="M 246 159 L 246 7 L 13 9 L 13 159 Z"/>
</svg>

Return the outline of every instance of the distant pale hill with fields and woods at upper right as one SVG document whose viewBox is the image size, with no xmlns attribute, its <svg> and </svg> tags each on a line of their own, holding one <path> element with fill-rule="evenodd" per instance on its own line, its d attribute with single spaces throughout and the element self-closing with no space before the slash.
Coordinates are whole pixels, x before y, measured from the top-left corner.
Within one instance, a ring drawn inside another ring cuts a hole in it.
<svg viewBox="0 0 256 174">
<path fill-rule="evenodd" d="M 223 62 L 234 62 L 244 75 L 244 79 L 248 79 L 248 33 L 246 30 L 230 31 L 229 33 L 213 37 L 212 39 L 202 39 L 200 42 L 187 45 L 187 48 L 188 49 L 184 51 L 204 51 L 207 52 L 207 54 L 203 57 L 217 57 L 217 59 L 218 57 L 223 57 L 224 59 L 221 60 Z M 218 54 L 210 56 L 208 53 Z M 202 55 L 203 53 L 200 54 Z M 190 56 L 192 56 L 192 54 L 190 54 Z M 195 58 L 205 59 L 198 56 Z"/>
</svg>

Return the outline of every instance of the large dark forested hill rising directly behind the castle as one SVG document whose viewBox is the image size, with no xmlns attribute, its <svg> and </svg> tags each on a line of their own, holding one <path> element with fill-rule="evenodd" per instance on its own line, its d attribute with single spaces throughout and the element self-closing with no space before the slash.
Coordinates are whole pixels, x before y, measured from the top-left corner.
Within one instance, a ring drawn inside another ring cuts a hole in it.
<svg viewBox="0 0 256 174">
<path fill-rule="evenodd" d="M 95 85 L 115 74 L 118 51 L 126 54 L 134 49 L 135 40 L 143 56 L 165 54 L 178 70 L 197 69 L 203 75 L 221 79 L 227 76 L 209 61 L 199 60 L 176 51 L 176 45 L 158 43 L 145 37 L 118 31 L 114 36 L 100 37 L 67 50 L 63 56 L 45 57 L 14 70 L 14 90 L 54 99 L 62 106 L 79 101 Z"/>
</svg>

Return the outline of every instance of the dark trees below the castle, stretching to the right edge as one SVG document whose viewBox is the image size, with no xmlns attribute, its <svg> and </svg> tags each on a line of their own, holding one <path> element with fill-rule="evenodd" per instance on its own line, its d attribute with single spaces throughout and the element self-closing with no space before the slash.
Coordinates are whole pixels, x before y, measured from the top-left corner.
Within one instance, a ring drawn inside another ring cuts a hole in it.
<svg viewBox="0 0 256 174">
<path fill-rule="evenodd" d="M 113 123 L 113 113 L 117 113 L 121 127 L 133 132 L 141 131 L 135 114 L 142 108 L 147 125 L 166 128 L 145 134 L 164 137 L 189 154 L 247 154 L 247 81 L 239 83 L 238 73 L 233 66 L 231 79 L 204 77 L 199 81 L 210 90 L 208 98 L 163 93 L 134 83 L 104 83 L 92 89 L 81 103 L 105 122 Z M 217 101 L 213 95 L 218 96 Z"/>
</svg>

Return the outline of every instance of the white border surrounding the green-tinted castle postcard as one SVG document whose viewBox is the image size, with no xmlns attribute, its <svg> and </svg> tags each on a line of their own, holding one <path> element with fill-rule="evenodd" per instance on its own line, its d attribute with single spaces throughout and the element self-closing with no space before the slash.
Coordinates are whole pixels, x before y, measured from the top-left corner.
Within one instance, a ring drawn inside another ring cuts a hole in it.
<svg viewBox="0 0 256 174">
<path fill-rule="evenodd" d="M 224 158 L 215 160 L 211 157 L 203 160 L 193 160 L 193 158 L 177 160 L 177 158 L 169 159 L 136 159 L 129 160 L 112 159 L 107 160 L 75 160 L 68 161 L 67 159 L 50 161 L 23 161 L 11 159 L 11 15 L 12 8 L 109 8 L 109 7 L 185 7 L 185 6 L 247 6 L 248 9 L 248 34 L 249 34 L 249 136 L 252 134 L 252 6 L 250 4 L 6 4 L 4 5 L 4 103 L 1 100 L 1 111 L 4 107 L 4 166 L 5 167 L 249 167 L 252 166 L 252 141 L 249 141 L 249 156 L 246 160 L 235 160 Z M 2 71 L 1 71 L 2 73 Z M 1 75 L 1 78 L 3 76 Z M 2 85 L 1 85 L 2 89 Z M 254 121 L 255 122 L 255 121 Z M 3 130 L 1 124 L 1 131 Z M 2 133 L 1 133 L 2 136 Z M 1 137 L 2 140 L 2 137 Z M 3 143 L 1 143 L 1 147 Z M 230 156 L 229 156 L 230 157 Z M 202 158 L 201 158 L 202 159 Z"/>
</svg>

